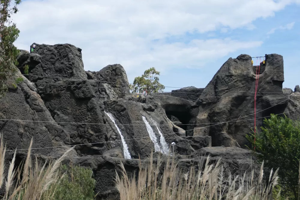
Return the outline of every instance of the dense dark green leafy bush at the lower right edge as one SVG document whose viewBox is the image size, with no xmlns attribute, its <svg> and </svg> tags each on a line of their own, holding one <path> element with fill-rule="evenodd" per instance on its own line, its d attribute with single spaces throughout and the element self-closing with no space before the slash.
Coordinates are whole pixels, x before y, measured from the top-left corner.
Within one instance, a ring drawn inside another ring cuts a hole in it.
<svg viewBox="0 0 300 200">
<path fill-rule="evenodd" d="M 298 199 L 299 158 L 300 158 L 300 121 L 286 116 L 271 115 L 264 120 L 265 127 L 256 134 L 256 154 L 258 160 L 265 161 L 269 169 L 279 168 L 279 182 L 282 194 Z M 254 133 L 246 136 L 254 147 Z"/>
</svg>

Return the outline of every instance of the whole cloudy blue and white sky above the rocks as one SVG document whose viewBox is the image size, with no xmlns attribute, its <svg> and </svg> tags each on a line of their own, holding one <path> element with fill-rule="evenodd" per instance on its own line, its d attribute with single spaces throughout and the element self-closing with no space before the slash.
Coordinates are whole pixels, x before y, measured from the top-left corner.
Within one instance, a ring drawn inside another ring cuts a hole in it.
<svg viewBox="0 0 300 200">
<path fill-rule="evenodd" d="M 300 85 L 300 0 L 22 0 L 13 19 L 19 49 L 70 43 L 85 70 L 118 63 L 131 83 L 155 67 L 165 86 L 205 87 L 229 57 L 277 53 L 283 87 Z"/>
</svg>

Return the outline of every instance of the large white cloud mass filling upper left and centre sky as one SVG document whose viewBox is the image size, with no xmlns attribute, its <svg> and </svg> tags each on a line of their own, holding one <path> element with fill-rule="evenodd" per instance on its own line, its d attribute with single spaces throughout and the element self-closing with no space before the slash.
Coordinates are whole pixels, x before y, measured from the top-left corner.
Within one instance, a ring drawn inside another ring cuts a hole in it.
<svg viewBox="0 0 300 200">
<path fill-rule="evenodd" d="M 26 0 L 14 21 L 20 29 L 19 49 L 33 43 L 71 43 L 82 48 L 85 70 L 119 63 L 128 78 L 146 68 L 201 67 L 261 41 L 192 40 L 190 43 L 153 42 L 188 31 L 211 32 L 224 27 L 251 28 L 258 18 L 273 16 L 295 0 Z M 253 12 L 251 7 L 263 7 Z M 225 29 L 223 29 L 225 30 Z"/>
</svg>

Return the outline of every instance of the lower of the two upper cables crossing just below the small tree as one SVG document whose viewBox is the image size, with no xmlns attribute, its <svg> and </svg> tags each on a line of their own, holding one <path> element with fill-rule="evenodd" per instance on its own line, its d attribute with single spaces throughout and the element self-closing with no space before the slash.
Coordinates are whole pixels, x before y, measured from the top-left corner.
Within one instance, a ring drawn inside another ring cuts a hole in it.
<svg viewBox="0 0 300 200">
<path fill-rule="evenodd" d="M 7 82 L 16 82 L 14 80 L 3 80 L 0 79 L 0 81 L 7 81 Z M 25 82 L 25 81 L 19 81 L 19 82 L 23 82 L 23 83 L 33 83 L 33 84 L 47 84 L 47 85 L 63 85 L 63 86 L 74 86 L 74 87 L 87 87 L 87 88 L 105 88 L 105 87 L 95 87 L 95 86 L 87 86 L 87 85 L 67 85 L 67 84 L 58 84 L 58 83 L 40 83 L 40 82 Z M 113 88 L 112 88 L 113 89 Z M 119 88 L 119 89 L 128 89 L 128 88 Z M 205 90 L 205 89 L 202 89 Z M 226 90 L 210 90 L 210 91 L 226 91 Z M 172 93 L 171 92 L 165 92 L 165 93 Z M 230 91 L 227 90 L 227 92 L 235 92 L 235 93 L 246 93 L 246 92 L 250 92 L 250 91 Z M 196 92 L 173 92 L 173 93 L 185 93 L 185 94 L 199 94 Z M 253 92 L 250 92 L 253 93 Z M 260 92 L 260 93 L 270 93 L 268 96 L 286 96 L 284 94 L 282 94 L 282 92 Z M 279 94 L 275 94 L 275 93 L 279 93 Z M 151 94 L 151 93 L 149 93 Z M 205 93 L 202 92 L 201 94 L 211 94 L 211 93 Z M 214 95 L 224 95 L 224 94 L 214 94 Z M 239 94 L 239 96 L 255 96 L 255 94 Z"/>
</svg>

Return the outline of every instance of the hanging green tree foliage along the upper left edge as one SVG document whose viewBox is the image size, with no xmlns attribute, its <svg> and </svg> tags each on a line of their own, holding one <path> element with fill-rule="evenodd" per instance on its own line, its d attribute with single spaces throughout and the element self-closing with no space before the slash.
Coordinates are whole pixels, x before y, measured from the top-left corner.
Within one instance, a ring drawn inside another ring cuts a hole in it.
<svg viewBox="0 0 300 200">
<path fill-rule="evenodd" d="M 19 29 L 10 19 L 12 14 L 17 13 L 17 5 L 21 0 L 0 1 L 0 98 L 7 92 L 7 81 L 12 74 L 16 73 L 17 56 L 19 50 L 13 45 L 19 37 Z M 11 7 L 13 4 L 14 6 Z"/>
</svg>

